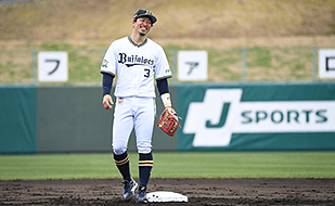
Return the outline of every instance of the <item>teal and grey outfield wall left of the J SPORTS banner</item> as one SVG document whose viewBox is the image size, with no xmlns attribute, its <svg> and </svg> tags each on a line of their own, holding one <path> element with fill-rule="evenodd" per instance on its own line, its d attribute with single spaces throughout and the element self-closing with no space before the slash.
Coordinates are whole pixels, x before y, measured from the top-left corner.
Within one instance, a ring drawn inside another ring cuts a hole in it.
<svg viewBox="0 0 335 206">
<path fill-rule="evenodd" d="M 0 154 L 111 152 L 114 111 L 101 103 L 101 87 L 0 88 Z M 177 138 L 155 127 L 153 147 L 177 151 Z M 129 151 L 137 151 L 133 133 Z"/>
</svg>

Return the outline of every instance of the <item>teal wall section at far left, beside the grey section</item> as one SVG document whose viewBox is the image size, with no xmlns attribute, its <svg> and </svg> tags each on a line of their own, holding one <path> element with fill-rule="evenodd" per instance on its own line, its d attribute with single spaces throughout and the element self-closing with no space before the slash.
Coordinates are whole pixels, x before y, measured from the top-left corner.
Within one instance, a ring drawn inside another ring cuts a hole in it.
<svg viewBox="0 0 335 206">
<path fill-rule="evenodd" d="M 0 87 L 0 154 L 36 151 L 36 88 Z"/>
</svg>

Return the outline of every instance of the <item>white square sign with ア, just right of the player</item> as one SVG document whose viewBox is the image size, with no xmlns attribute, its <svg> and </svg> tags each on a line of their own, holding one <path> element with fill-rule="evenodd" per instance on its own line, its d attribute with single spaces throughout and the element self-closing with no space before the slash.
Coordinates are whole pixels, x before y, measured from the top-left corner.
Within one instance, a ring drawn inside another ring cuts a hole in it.
<svg viewBox="0 0 335 206">
<path fill-rule="evenodd" d="M 208 54 L 207 51 L 179 51 L 178 79 L 181 81 L 207 80 Z"/>
</svg>

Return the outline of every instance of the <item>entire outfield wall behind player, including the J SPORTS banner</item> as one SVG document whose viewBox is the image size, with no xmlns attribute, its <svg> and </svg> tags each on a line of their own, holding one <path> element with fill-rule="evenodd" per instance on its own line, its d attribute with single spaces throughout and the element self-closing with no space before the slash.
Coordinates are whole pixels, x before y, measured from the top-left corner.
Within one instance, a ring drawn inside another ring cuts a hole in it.
<svg viewBox="0 0 335 206">
<path fill-rule="evenodd" d="M 169 138 L 155 127 L 154 151 L 335 150 L 333 82 L 184 83 L 170 93 L 182 129 Z M 111 152 L 113 111 L 101 101 L 101 87 L 0 88 L 0 153 Z"/>
</svg>

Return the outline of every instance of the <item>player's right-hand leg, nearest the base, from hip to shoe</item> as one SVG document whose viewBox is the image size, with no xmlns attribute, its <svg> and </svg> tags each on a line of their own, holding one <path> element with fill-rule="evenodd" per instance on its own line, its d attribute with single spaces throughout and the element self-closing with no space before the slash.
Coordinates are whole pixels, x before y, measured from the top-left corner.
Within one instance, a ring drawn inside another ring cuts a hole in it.
<svg viewBox="0 0 335 206">
<path fill-rule="evenodd" d="M 140 190 L 137 198 L 138 201 L 145 202 L 145 191 L 153 168 L 152 136 L 156 114 L 156 104 L 154 99 L 151 98 L 141 98 L 138 102 L 139 108 L 137 115 L 134 116 L 134 129 L 137 136 L 137 147 L 139 152 Z"/>
</svg>

